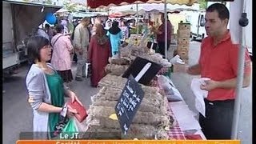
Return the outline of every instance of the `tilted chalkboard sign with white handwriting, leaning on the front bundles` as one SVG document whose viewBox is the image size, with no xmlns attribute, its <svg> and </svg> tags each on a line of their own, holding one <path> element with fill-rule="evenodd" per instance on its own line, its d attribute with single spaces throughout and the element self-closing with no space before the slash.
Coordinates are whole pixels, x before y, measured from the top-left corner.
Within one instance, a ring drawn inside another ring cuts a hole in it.
<svg viewBox="0 0 256 144">
<path fill-rule="evenodd" d="M 118 99 L 118 103 L 114 107 L 124 134 L 127 133 L 143 97 L 144 91 L 142 87 L 139 86 L 138 82 L 130 75 Z"/>
</svg>

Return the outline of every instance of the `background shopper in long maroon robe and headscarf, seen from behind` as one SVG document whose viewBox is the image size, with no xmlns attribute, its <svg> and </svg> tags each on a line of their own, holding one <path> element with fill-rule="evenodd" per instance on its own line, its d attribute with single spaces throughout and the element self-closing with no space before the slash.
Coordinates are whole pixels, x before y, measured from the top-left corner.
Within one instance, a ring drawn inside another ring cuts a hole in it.
<svg viewBox="0 0 256 144">
<path fill-rule="evenodd" d="M 98 82 L 106 75 L 105 67 L 110 58 L 110 40 L 101 24 L 96 24 L 95 34 L 90 40 L 88 62 L 91 64 L 91 86 L 97 87 Z"/>
</svg>

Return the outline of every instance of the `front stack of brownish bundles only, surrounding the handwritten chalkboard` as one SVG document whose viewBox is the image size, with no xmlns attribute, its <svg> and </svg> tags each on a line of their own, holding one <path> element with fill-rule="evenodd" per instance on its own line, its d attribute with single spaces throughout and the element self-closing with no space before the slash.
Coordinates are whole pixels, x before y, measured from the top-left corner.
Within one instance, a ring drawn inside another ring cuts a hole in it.
<svg viewBox="0 0 256 144">
<path fill-rule="evenodd" d="M 126 135 L 122 134 L 114 107 L 122 93 L 127 79 L 107 74 L 99 85 L 102 89 L 95 94 L 86 118 L 87 138 L 105 139 L 169 139 L 168 130 L 174 126 L 174 119 L 167 112 L 167 99 L 157 87 L 142 86 L 145 92 L 141 105 L 134 116 Z"/>
</svg>

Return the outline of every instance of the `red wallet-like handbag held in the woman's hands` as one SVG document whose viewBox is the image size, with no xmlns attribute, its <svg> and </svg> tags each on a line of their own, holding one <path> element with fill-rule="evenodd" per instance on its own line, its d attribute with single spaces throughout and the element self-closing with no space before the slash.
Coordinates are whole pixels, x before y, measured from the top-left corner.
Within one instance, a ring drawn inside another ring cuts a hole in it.
<svg viewBox="0 0 256 144">
<path fill-rule="evenodd" d="M 72 109 L 75 109 L 78 111 L 78 114 L 74 114 L 74 117 L 78 119 L 78 122 L 82 122 L 86 119 L 87 113 L 86 108 L 82 105 L 80 105 L 76 100 L 72 103 L 71 100 L 67 102 L 67 105 L 69 105 Z"/>
</svg>

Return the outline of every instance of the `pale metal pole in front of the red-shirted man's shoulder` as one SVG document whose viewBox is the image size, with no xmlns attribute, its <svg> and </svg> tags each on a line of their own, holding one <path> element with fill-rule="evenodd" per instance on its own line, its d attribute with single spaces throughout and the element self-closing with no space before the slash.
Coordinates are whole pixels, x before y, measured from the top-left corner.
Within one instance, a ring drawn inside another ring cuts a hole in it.
<svg viewBox="0 0 256 144">
<path fill-rule="evenodd" d="M 243 10 L 244 0 L 241 1 L 241 13 Z M 242 96 L 242 82 L 243 82 L 243 74 L 244 74 L 244 63 L 245 63 L 245 53 L 246 48 L 243 45 L 242 36 L 244 34 L 244 29 L 240 26 L 242 34 L 240 34 L 240 48 L 238 52 L 238 76 L 237 76 L 237 87 L 236 87 L 236 97 L 234 101 L 234 115 L 232 121 L 232 133 L 231 139 L 238 139 L 238 122 L 241 113 L 241 96 Z"/>
</svg>

